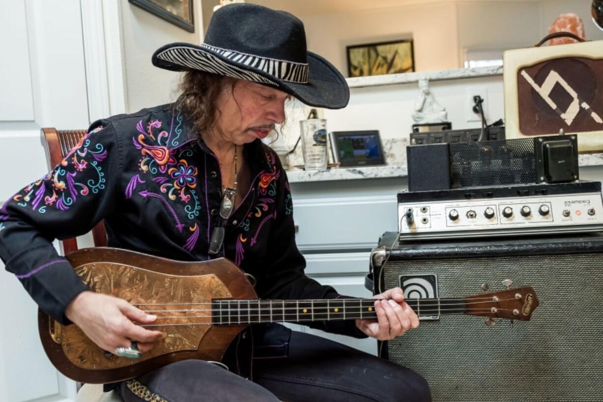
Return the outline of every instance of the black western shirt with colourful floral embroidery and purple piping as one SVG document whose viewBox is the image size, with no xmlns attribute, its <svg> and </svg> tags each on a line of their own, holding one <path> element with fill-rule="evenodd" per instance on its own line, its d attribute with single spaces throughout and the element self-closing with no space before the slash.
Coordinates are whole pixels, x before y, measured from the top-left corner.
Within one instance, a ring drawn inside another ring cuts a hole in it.
<svg viewBox="0 0 603 402">
<path fill-rule="evenodd" d="M 221 224 L 218 160 L 178 104 L 99 120 L 49 174 L 0 211 L 0 257 L 40 308 L 69 324 L 65 308 L 87 289 L 52 246 L 104 219 L 108 246 L 181 261 L 227 257 L 256 278 L 262 299 L 339 295 L 304 274 L 295 246 L 291 193 L 270 147 L 246 144 L 251 185 L 226 225 L 224 245 L 209 255 Z M 353 321 L 312 327 L 361 336 Z"/>
</svg>

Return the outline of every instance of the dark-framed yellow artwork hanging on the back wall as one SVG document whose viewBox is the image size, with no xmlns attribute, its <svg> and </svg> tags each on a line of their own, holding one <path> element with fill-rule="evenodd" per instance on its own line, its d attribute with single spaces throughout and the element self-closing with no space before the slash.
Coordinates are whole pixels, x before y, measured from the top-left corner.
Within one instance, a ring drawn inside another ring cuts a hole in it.
<svg viewBox="0 0 603 402">
<path fill-rule="evenodd" d="M 349 77 L 413 72 L 412 39 L 346 46 Z"/>
</svg>

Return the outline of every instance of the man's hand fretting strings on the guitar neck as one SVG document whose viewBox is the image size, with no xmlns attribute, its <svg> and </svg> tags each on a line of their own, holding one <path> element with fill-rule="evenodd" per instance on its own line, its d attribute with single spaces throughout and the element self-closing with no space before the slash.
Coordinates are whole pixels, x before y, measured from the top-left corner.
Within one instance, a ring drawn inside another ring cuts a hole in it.
<svg viewBox="0 0 603 402">
<path fill-rule="evenodd" d="M 386 290 L 373 299 L 377 319 L 356 320 L 356 327 L 377 340 L 390 340 L 402 336 L 411 328 L 418 327 L 418 317 L 404 301 L 404 292 L 399 287 Z"/>
</svg>

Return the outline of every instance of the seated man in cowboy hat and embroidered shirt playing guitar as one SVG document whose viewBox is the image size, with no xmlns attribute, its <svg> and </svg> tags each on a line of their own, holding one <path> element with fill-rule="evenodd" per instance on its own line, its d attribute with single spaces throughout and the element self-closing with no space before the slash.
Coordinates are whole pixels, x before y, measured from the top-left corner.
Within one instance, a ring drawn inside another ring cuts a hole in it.
<svg viewBox="0 0 603 402">
<path fill-rule="evenodd" d="M 0 256 L 43 311 L 101 348 L 143 354 L 162 333 L 157 317 L 89 292 L 52 238 L 104 219 L 109 246 L 182 261 L 227 257 L 256 280 L 262 299 L 335 299 L 304 275 L 286 174 L 261 138 L 285 120 L 285 101 L 344 107 L 346 81 L 306 51 L 301 22 L 251 4 L 220 8 L 200 46 L 172 43 L 153 63 L 186 71 L 174 104 L 112 116 L 43 179 L 5 204 Z M 418 326 L 400 289 L 379 295 L 377 320 L 316 322 L 350 336 L 393 339 Z M 418 374 L 279 324 L 247 328 L 223 360 L 171 363 L 114 384 L 139 401 L 428 401 Z"/>
</svg>

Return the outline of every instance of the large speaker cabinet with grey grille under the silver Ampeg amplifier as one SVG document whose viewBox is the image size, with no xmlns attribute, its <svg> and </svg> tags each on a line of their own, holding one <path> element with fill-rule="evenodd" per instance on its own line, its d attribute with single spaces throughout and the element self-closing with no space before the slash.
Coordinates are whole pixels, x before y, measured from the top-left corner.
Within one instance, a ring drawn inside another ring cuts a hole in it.
<svg viewBox="0 0 603 402">
<path fill-rule="evenodd" d="M 530 321 L 443 315 L 380 342 L 380 356 L 429 381 L 434 401 L 603 400 L 601 235 L 399 243 L 387 233 L 372 260 L 375 293 L 469 296 L 511 279 L 540 301 Z"/>
</svg>

